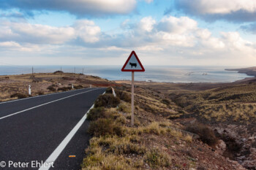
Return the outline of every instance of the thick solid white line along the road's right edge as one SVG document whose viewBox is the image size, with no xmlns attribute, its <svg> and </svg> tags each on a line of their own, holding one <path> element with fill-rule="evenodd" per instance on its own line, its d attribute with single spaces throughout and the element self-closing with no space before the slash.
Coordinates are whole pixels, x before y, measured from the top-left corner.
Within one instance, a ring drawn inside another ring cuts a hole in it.
<svg viewBox="0 0 256 170">
<path fill-rule="evenodd" d="M 105 94 L 105 92 L 103 93 Z M 39 170 L 48 170 L 50 167 L 53 165 L 54 166 L 54 161 L 59 157 L 61 152 L 64 150 L 64 148 L 67 146 L 69 141 L 72 139 L 72 137 L 75 135 L 75 133 L 78 131 L 81 125 L 83 125 L 84 121 L 87 118 L 87 114 L 90 112 L 90 110 L 94 108 L 94 104 L 91 106 L 91 108 L 86 112 L 86 115 L 82 117 L 82 119 L 78 122 L 77 125 L 72 129 L 72 131 L 69 132 L 69 134 L 65 137 L 65 139 L 59 144 L 59 146 L 50 154 L 50 156 L 47 158 L 45 163 L 42 163 L 42 165 L 48 165 L 48 166 L 42 166 L 39 168 Z"/>
</svg>

